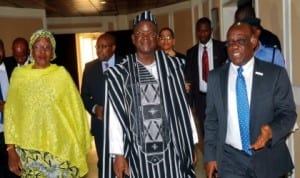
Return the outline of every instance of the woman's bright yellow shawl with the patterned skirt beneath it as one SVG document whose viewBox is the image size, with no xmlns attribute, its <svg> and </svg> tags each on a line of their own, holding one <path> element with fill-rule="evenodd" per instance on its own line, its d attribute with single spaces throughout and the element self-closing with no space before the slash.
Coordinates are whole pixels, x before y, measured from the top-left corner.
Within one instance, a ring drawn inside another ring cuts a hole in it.
<svg viewBox="0 0 300 178">
<path fill-rule="evenodd" d="M 18 67 L 11 76 L 4 111 L 6 144 L 19 147 L 23 177 L 30 177 L 31 166 L 39 163 L 41 169 L 61 164 L 63 172 L 66 162 L 77 168 L 75 177 L 84 176 L 91 137 L 78 89 L 64 67 L 32 66 Z"/>
</svg>

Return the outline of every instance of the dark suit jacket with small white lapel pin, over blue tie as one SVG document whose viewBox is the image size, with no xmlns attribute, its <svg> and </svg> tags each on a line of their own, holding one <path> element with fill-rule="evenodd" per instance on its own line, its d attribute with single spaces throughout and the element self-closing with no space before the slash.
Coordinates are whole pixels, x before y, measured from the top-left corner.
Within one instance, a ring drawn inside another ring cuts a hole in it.
<svg viewBox="0 0 300 178">
<path fill-rule="evenodd" d="M 209 74 L 205 120 L 204 159 L 220 163 L 227 132 L 229 63 Z M 293 169 L 285 138 L 296 120 L 295 103 L 284 68 L 255 59 L 250 104 L 250 137 L 253 144 L 263 125 L 272 128 L 272 140 L 254 151 L 252 163 L 258 178 L 274 178 Z"/>
</svg>

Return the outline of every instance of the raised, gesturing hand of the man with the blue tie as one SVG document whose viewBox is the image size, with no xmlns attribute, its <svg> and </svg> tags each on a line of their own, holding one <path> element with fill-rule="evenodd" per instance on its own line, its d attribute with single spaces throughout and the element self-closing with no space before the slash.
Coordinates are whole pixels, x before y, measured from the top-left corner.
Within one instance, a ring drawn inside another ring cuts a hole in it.
<svg viewBox="0 0 300 178">
<path fill-rule="evenodd" d="M 272 129 L 268 125 L 264 125 L 260 129 L 260 135 L 253 145 L 251 145 L 251 149 L 259 150 L 266 146 L 267 142 L 272 139 Z"/>
</svg>

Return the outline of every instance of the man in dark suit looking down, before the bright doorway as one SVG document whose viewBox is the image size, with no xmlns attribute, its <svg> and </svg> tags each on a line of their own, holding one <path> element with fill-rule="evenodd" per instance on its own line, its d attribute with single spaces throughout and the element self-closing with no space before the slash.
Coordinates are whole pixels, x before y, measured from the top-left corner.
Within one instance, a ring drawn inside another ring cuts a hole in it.
<svg viewBox="0 0 300 178">
<path fill-rule="evenodd" d="M 120 63 L 122 57 L 115 55 L 116 39 L 110 33 L 104 33 L 97 39 L 98 59 L 85 65 L 82 79 L 81 97 L 86 110 L 91 114 L 91 133 L 95 138 L 98 154 L 98 171 L 101 176 L 103 150 L 103 106 L 105 99 L 105 75 L 108 67 Z"/>
</svg>

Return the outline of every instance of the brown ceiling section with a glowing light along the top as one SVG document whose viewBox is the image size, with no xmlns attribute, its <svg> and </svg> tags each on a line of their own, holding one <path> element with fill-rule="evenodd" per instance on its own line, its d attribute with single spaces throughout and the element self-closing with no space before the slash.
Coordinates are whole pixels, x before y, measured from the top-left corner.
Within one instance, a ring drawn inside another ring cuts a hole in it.
<svg viewBox="0 0 300 178">
<path fill-rule="evenodd" d="M 0 0 L 0 6 L 45 9 L 46 17 L 124 15 L 187 0 Z"/>
</svg>

